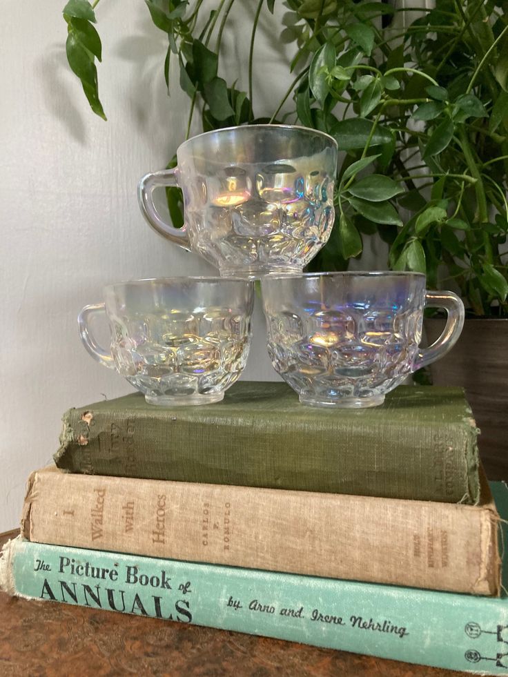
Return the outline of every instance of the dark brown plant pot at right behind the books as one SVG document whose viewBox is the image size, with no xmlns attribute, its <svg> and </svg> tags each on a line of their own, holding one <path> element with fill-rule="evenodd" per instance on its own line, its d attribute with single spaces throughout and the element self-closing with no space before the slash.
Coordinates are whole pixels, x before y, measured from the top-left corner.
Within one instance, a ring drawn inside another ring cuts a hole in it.
<svg viewBox="0 0 508 677">
<path fill-rule="evenodd" d="M 443 327 L 442 318 L 424 320 L 429 344 Z M 487 476 L 508 479 L 508 319 L 467 319 L 453 349 L 431 366 L 431 377 L 434 385 L 465 388 Z"/>
</svg>

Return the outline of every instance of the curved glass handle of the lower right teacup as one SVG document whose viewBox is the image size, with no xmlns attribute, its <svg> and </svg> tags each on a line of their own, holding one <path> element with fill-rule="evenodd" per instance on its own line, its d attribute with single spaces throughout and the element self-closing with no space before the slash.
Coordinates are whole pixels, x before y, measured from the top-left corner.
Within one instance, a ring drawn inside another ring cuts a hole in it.
<svg viewBox="0 0 508 677">
<path fill-rule="evenodd" d="M 426 291 L 425 306 L 444 308 L 447 311 L 447 324 L 436 342 L 428 348 L 420 349 L 413 364 L 413 371 L 446 355 L 456 344 L 464 326 L 464 304 L 453 291 Z"/>
</svg>

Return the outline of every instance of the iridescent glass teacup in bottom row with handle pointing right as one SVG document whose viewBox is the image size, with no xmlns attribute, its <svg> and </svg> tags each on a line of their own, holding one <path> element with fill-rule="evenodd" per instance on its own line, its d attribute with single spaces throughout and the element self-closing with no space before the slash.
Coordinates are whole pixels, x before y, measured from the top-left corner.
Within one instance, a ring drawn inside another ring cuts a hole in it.
<svg viewBox="0 0 508 677">
<path fill-rule="evenodd" d="M 422 273 L 308 273 L 261 286 L 268 353 L 303 404 L 382 404 L 407 375 L 447 353 L 464 324 L 460 298 L 427 291 Z M 421 349 L 425 306 L 444 308 L 447 324 Z"/>
</svg>

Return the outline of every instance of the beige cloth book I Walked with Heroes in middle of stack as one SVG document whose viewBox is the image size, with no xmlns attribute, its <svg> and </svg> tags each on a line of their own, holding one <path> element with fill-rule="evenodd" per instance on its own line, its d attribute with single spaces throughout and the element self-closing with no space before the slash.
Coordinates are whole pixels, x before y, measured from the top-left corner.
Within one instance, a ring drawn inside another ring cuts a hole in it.
<svg viewBox="0 0 508 677">
<path fill-rule="evenodd" d="M 32 473 L 32 541 L 498 595 L 498 513 L 478 506 L 159 480 Z"/>
</svg>

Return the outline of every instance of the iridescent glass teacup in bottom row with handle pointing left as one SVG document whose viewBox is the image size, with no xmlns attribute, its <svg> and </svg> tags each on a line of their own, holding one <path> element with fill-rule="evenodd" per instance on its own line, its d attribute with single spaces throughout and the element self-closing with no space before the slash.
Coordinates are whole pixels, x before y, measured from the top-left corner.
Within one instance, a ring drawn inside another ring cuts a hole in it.
<svg viewBox="0 0 508 677">
<path fill-rule="evenodd" d="M 104 288 L 85 306 L 79 335 L 92 357 L 162 406 L 208 404 L 242 373 L 251 344 L 253 283 L 220 277 L 141 279 Z M 90 330 L 106 315 L 110 349 Z"/>
</svg>

